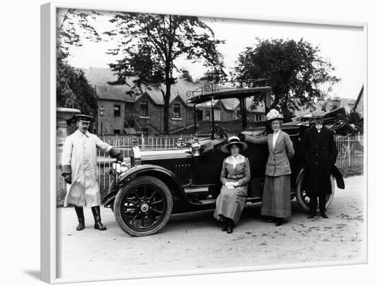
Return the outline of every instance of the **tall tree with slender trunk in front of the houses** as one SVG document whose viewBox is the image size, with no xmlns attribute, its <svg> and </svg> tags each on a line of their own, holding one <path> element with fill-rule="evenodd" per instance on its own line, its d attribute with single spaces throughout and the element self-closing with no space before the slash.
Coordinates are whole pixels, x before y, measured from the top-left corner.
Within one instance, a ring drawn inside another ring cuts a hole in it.
<svg viewBox="0 0 377 286">
<path fill-rule="evenodd" d="M 110 22 L 115 29 L 106 34 L 119 38 L 119 46 L 109 53 L 123 57 L 110 64 L 118 75 L 110 84 L 127 84 L 127 78 L 134 77 L 132 93 L 143 92 L 144 86 L 160 88 L 163 132 L 169 133 L 171 86 L 177 80 L 173 73 L 179 71 L 175 61 L 180 57 L 202 60 L 208 71 L 221 74 L 223 58 L 217 45 L 223 41 L 215 39 L 212 29 L 193 16 L 119 12 Z"/>
</svg>

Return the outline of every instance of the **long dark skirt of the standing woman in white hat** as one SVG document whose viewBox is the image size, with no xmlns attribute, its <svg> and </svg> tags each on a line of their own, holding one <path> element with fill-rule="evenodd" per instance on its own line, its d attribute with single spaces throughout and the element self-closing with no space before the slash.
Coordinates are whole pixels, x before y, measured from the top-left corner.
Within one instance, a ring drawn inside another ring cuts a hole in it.
<svg viewBox="0 0 377 286">
<path fill-rule="evenodd" d="M 265 176 L 260 214 L 271 217 L 291 216 L 291 175 Z"/>
</svg>

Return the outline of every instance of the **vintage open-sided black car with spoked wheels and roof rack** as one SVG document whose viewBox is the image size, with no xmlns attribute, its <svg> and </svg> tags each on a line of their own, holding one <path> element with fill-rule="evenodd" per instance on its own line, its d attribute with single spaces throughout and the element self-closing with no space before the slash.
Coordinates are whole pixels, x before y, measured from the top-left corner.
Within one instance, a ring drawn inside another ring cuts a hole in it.
<svg viewBox="0 0 377 286">
<path fill-rule="evenodd" d="M 262 126 L 260 123 L 259 126 L 251 126 L 247 121 L 247 102 L 254 95 L 267 95 L 267 98 L 270 93 L 269 86 L 214 88 L 212 85 L 189 92 L 192 97 L 187 102 L 193 104 L 194 112 L 195 106 L 200 104 L 210 102 L 212 106 L 210 136 L 195 138 L 191 142 L 180 142 L 172 150 L 140 150 L 134 145 L 128 159 L 130 163 L 112 164 L 114 180 L 108 195 L 104 198 L 104 206 L 114 211 L 121 229 L 133 236 L 153 235 L 167 224 L 172 213 L 215 208 L 216 198 L 221 189 L 221 166 L 223 159 L 228 156 L 220 151 L 220 147 L 227 143 L 228 134 L 217 124 L 219 122 L 215 122 L 215 103 L 226 99 L 239 101 L 242 130 L 234 130 L 230 135 L 242 131 L 251 136 L 264 136 L 268 131 L 265 123 Z M 265 106 L 269 106 L 267 99 Z M 339 117 L 342 112 L 342 108 L 327 112 L 324 124 L 334 132 L 345 135 L 348 133 L 348 124 Z M 305 170 L 297 145 L 311 124 L 311 118 L 302 117 L 296 120 L 283 123 L 282 130 L 291 136 L 296 151 L 295 157 L 291 160 L 291 198 L 296 198 L 301 208 L 308 212 Z M 194 125 L 197 132 L 195 119 Z M 247 202 L 260 202 L 268 156 L 267 146 L 250 144 L 243 154 L 250 159 L 252 165 Z M 334 178 L 337 186 L 344 189 L 343 178 L 337 167 L 334 167 L 332 178 L 328 178 L 331 180 L 332 194 L 328 195 L 327 206 L 334 196 Z"/>
</svg>

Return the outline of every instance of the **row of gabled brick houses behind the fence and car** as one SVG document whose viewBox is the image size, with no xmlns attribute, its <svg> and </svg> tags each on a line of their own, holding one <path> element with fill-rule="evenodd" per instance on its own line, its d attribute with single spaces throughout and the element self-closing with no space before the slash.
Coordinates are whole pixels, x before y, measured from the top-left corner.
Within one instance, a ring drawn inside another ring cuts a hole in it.
<svg viewBox="0 0 377 286">
<path fill-rule="evenodd" d="M 90 68 L 82 69 L 88 82 L 95 87 L 98 99 L 98 122 L 95 124 L 97 134 L 160 134 L 163 130 L 164 101 L 160 88 L 143 88 L 141 95 L 130 95 L 132 78 L 128 85 L 113 86 L 108 82 L 117 80 L 110 69 Z M 178 79 L 171 86 L 171 99 L 169 104 L 169 132 L 192 132 L 193 106 L 186 104 L 189 98 L 187 91 L 201 88 L 204 82 L 187 82 Z M 211 103 L 198 104 L 195 116 L 199 126 L 204 126 L 203 132 L 212 121 Z M 265 120 L 263 104 L 254 104 L 252 98 L 247 99 L 247 118 L 250 122 Z M 235 125 L 240 125 L 240 104 L 238 99 L 223 99 L 215 101 L 215 121 L 228 126 L 228 130 L 239 130 Z"/>
</svg>

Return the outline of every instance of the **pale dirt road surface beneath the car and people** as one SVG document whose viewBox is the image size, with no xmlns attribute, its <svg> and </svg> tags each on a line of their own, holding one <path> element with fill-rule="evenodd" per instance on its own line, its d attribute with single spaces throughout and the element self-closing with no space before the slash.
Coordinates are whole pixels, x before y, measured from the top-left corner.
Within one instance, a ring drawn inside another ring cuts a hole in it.
<svg viewBox="0 0 377 286">
<path fill-rule="evenodd" d="M 160 233 L 130 237 L 108 208 L 101 208 L 108 230 L 94 230 L 93 215 L 85 208 L 86 228 L 80 232 L 73 208 L 58 208 L 58 276 L 95 279 L 282 263 L 362 263 L 363 176 L 345 178 L 345 186 L 335 191 L 329 219 L 307 219 L 293 200 L 291 219 L 276 227 L 260 217 L 260 204 L 250 204 L 230 235 L 221 231 L 213 211 L 173 215 Z"/>
</svg>

